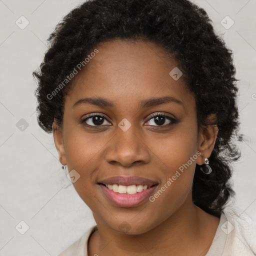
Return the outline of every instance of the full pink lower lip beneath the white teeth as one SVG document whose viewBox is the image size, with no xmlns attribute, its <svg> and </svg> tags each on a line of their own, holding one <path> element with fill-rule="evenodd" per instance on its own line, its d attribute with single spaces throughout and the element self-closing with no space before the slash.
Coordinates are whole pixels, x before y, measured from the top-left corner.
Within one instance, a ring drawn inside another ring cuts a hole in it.
<svg viewBox="0 0 256 256">
<path fill-rule="evenodd" d="M 150 188 L 137 192 L 135 194 L 128 193 L 118 193 L 107 188 L 106 186 L 99 184 L 105 195 L 116 205 L 120 207 L 134 207 L 147 199 L 150 194 L 153 192 L 157 185 L 154 185 Z"/>
</svg>

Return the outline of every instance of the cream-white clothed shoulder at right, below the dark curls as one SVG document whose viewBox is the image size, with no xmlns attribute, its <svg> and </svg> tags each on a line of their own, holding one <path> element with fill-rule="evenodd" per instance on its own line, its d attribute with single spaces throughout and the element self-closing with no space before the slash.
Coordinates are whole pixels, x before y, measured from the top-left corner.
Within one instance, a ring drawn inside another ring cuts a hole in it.
<svg viewBox="0 0 256 256">
<path fill-rule="evenodd" d="M 223 255 L 256 255 L 256 221 L 238 207 L 228 206 L 223 210 L 226 221 L 221 229 L 226 233 Z"/>
</svg>

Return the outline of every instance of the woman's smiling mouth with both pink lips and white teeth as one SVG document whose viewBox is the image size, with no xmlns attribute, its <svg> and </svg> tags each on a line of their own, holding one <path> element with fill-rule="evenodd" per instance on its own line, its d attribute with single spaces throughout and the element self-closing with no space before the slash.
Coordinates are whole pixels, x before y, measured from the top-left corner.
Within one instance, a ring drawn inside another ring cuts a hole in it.
<svg viewBox="0 0 256 256">
<path fill-rule="evenodd" d="M 137 176 L 115 176 L 97 182 L 108 200 L 119 207 L 134 207 L 143 203 L 159 184 Z"/>
</svg>

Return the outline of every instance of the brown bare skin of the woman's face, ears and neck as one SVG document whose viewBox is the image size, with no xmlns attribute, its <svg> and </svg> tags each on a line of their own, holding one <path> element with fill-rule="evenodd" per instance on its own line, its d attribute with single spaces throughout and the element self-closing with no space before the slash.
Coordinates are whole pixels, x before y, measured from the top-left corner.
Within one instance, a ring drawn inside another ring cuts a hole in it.
<svg viewBox="0 0 256 256">
<path fill-rule="evenodd" d="M 174 80 L 169 75 L 177 64 L 160 46 L 114 39 L 97 49 L 65 96 L 62 126 L 55 121 L 52 125 L 59 161 L 80 174 L 73 186 L 97 223 L 98 230 L 88 241 L 88 255 L 205 255 L 219 218 L 192 203 L 192 180 L 195 163 L 203 164 L 211 154 L 216 126 L 197 128 L 194 96 L 182 76 Z M 160 96 L 172 96 L 182 104 L 139 106 L 140 100 Z M 103 97 L 114 105 L 72 107 L 85 97 Z M 177 122 L 167 118 L 164 124 L 155 122 L 152 115 L 158 112 Z M 101 126 L 93 118 L 81 123 L 89 113 L 106 119 Z M 127 131 L 118 126 L 123 118 L 131 124 Z M 136 175 L 157 180 L 157 191 L 197 151 L 201 155 L 154 202 L 119 207 L 97 185 L 99 179 Z M 120 230 L 123 221 L 128 231 Z"/>
</svg>

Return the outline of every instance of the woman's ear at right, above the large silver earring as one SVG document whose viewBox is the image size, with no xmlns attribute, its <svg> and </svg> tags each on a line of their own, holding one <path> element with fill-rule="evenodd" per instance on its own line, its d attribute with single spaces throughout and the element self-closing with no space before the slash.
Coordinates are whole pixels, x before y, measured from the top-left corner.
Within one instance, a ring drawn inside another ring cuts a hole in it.
<svg viewBox="0 0 256 256">
<path fill-rule="evenodd" d="M 216 115 L 210 114 L 208 120 L 216 120 Z M 204 158 L 210 157 L 217 138 L 217 133 L 218 129 L 216 124 L 201 126 L 199 128 L 197 150 L 201 152 L 201 155 L 196 159 L 197 164 L 203 164 Z"/>
</svg>

